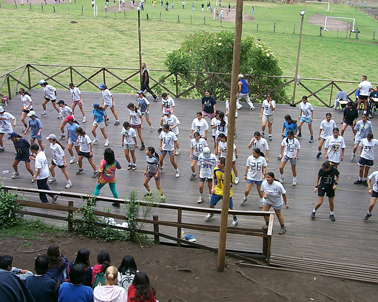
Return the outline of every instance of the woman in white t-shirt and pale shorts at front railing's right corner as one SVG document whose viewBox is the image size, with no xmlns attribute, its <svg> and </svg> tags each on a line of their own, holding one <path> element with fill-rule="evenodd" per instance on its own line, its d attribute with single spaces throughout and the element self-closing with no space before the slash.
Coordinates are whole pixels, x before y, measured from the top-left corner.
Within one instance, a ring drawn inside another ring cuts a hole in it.
<svg viewBox="0 0 378 302">
<path fill-rule="evenodd" d="M 273 172 L 268 172 L 265 180 L 261 184 L 261 191 L 263 192 L 263 211 L 269 211 L 271 207 L 274 209 L 274 213 L 277 215 L 277 219 L 280 222 L 281 229 L 278 232 L 279 235 L 286 233 L 286 226 L 283 215 L 281 213 L 282 206 L 285 204 L 285 208 L 288 209 L 286 190 L 283 185 L 274 177 Z M 264 216 L 265 224 L 263 229 L 267 229 L 269 225 L 269 217 Z"/>
</svg>

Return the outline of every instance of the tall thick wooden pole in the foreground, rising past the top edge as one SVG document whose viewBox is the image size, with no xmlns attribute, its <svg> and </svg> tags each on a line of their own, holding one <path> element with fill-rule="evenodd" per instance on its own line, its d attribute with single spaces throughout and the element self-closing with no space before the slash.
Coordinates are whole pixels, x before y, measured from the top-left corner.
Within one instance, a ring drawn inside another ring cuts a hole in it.
<svg viewBox="0 0 378 302">
<path fill-rule="evenodd" d="M 236 0 L 236 16 L 235 16 L 235 37 L 234 37 L 234 52 L 232 60 L 232 78 L 231 78 L 231 98 L 230 110 L 228 112 L 228 126 L 227 131 L 227 149 L 226 149 L 226 167 L 224 176 L 223 198 L 222 198 L 222 214 L 221 224 L 219 230 L 219 246 L 218 246 L 218 272 L 224 271 L 224 262 L 226 255 L 226 240 L 227 240 L 227 218 L 228 206 L 230 203 L 230 189 L 231 189 L 231 173 L 232 173 L 232 153 L 234 145 L 234 128 L 235 128 L 235 111 L 236 111 L 236 94 L 237 82 L 240 67 L 240 44 L 241 44 L 241 29 L 243 24 L 243 0 Z"/>
</svg>

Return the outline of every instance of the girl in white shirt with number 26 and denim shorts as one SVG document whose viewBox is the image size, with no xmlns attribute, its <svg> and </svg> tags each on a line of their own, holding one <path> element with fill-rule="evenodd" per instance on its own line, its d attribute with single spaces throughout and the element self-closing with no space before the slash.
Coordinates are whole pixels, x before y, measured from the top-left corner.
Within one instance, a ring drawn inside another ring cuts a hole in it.
<svg viewBox="0 0 378 302">
<path fill-rule="evenodd" d="M 247 196 L 250 192 L 252 184 L 256 183 L 256 189 L 260 196 L 260 205 L 259 208 L 263 207 L 264 194 L 261 191 L 261 184 L 265 179 L 265 174 L 267 170 L 267 161 L 265 160 L 265 155 L 259 148 L 254 148 L 252 150 L 252 155 L 248 157 L 247 163 L 245 166 L 244 180 L 247 181 L 247 185 L 244 191 L 244 198 L 240 202 L 240 205 L 244 205 L 247 201 Z"/>
</svg>

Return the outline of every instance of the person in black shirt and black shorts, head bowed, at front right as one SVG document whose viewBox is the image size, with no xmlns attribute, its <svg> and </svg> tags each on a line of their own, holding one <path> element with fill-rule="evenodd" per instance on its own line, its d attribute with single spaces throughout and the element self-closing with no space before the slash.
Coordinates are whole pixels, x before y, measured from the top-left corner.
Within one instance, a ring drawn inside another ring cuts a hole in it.
<svg viewBox="0 0 378 302">
<path fill-rule="evenodd" d="M 324 195 L 327 194 L 330 203 L 330 219 L 335 221 L 334 210 L 334 197 L 335 190 L 337 189 L 337 182 L 339 181 L 340 172 L 330 162 L 324 162 L 322 168 L 318 172 L 317 183 L 315 185 L 315 193 L 318 192 L 318 203 L 315 205 L 311 213 L 311 219 L 315 219 L 317 209 L 322 205 Z M 335 179 L 336 178 L 336 179 Z M 319 183 L 320 181 L 320 183 Z"/>
</svg>

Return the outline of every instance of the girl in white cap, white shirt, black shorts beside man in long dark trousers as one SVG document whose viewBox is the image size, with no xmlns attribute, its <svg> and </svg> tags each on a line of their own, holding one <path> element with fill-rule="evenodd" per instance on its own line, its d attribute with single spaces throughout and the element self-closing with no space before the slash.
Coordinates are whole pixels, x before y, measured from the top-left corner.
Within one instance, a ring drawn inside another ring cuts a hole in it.
<svg viewBox="0 0 378 302">
<path fill-rule="evenodd" d="M 52 179 L 50 179 L 47 182 L 49 184 L 52 184 L 58 181 L 55 177 L 55 171 L 54 171 L 55 167 L 58 166 L 61 172 L 66 176 L 66 179 L 67 179 L 66 189 L 69 189 L 72 187 L 72 182 L 70 180 L 70 175 L 68 174 L 68 171 L 66 169 L 67 168 L 66 156 L 65 156 L 65 152 L 63 151 L 65 147 L 63 147 L 60 144 L 60 142 L 56 140 L 55 134 L 50 134 L 49 136 L 46 137 L 46 139 L 48 139 L 50 143 L 50 150 L 52 153 L 51 164 L 48 167 L 48 169 L 50 170 Z"/>
</svg>

